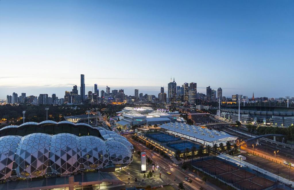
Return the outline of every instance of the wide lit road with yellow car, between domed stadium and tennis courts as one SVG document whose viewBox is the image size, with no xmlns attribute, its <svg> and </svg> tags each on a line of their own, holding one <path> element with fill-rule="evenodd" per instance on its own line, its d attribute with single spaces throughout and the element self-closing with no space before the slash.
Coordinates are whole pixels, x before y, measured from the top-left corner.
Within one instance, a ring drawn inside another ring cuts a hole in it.
<svg viewBox="0 0 294 190">
<path fill-rule="evenodd" d="M 159 165 L 159 168 L 162 174 L 161 178 L 167 181 L 172 186 L 174 186 L 176 189 L 178 189 L 177 188 L 178 183 L 181 181 L 184 183 L 185 189 L 188 189 L 188 190 L 200 189 L 201 186 L 209 190 L 216 189 L 215 187 L 208 185 L 207 183 L 204 183 L 201 180 L 198 181 L 198 178 L 196 177 L 196 175 L 195 174 L 193 175 L 191 172 L 189 172 L 188 175 L 184 174 L 183 170 L 179 166 L 169 161 L 166 161 L 165 159 L 162 158 L 161 155 L 158 154 L 158 152 L 149 150 L 146 146 L 133 140 L 130 136 L 128 136 L 127 139 L 135 146 L 135 149 L 137 151 L 140 150 L 141 152 L 146 152 L 148 156 L 151 156 L 151 154 L 155 155 L 155 156 L 152 156 L 152 161 L 153 161 L 152 163 Z M 168 165 L 171 165 L 173 168 L 170 168 Z M 171 175 L 167 174 L 166 173 L 167 171 L 170 171 Z M 192 183 L 185 181 L 185 176 L 188 176 L 189 178 L 191 178 Z"/>
</svg>

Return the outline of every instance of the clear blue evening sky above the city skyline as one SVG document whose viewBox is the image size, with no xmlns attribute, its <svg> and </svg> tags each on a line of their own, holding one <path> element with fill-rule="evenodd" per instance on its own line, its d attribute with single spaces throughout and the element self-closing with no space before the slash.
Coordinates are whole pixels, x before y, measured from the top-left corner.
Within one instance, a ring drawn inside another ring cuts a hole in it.
<svg viewBox="0 0 294 190">
<path fill-rule="evenodd" d="M 158 94 L 175 77 L 224 96 L 294 96 L 294 1 L 0 0 L 0 98 Z"/>
</svg>

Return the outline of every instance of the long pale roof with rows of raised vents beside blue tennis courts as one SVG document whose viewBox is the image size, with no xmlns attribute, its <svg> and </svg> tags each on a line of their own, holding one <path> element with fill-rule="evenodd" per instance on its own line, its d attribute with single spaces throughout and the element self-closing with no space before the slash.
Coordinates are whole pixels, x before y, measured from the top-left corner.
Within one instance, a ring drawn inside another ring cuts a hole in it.
<svg viewBox="0 0 294 190">
<path fill-rule="evenodd" d="M 201 128 L 199 126 L 182 124 L 182 123 L 167 123 L 159 126 L 163 129 L 174 131 L 180 134 L 191 136 L 197 139 L 202 139 L 204 141 L 213 142 L 220 139 L 235 140 L 237 137 L 231 136 L 223 131 L 216 131 L 214 129 L 210 130 L 207 128 Z"/>
</svg>

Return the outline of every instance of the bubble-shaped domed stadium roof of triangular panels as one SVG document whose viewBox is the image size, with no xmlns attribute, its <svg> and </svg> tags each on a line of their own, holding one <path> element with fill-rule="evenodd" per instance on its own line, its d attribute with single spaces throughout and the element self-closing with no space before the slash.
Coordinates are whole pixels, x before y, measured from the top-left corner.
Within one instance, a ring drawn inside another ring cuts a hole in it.
<svg viewBox="0 0 294 190">
<path fill-rule="evenodd" d="M 90 131 L 94 135 L 83 133 L 79 136 L 60 132 L 62 130 L 59 129 Z M 43 133 L 37 132 L 42 130 Z M 109 139 L 105 141 L 100 132 L 108 135 Z M 23 135 L 4 135 L 9 133 Z M 88 124 L 28 122 L 20 126 L 6 126 L 0 129 L 0 136 L 0 180 L 11 176 L 35 178 L 72 174 L 85 169 L 116 167 L 117 164 L 121 167 L 133 160 L 133 146 L 125 137 Z"/>
</svg>

